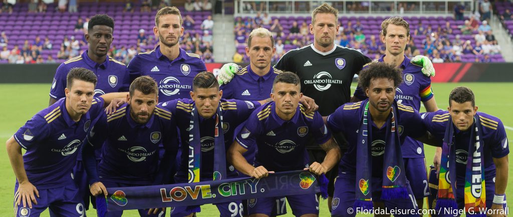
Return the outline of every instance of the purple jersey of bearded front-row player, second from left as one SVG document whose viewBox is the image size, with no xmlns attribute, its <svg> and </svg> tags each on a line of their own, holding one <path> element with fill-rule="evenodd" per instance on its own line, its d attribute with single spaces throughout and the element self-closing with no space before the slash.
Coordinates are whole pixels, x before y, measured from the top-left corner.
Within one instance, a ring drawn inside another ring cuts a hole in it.
<svg viewBox="0 0 513 217">
<path fill-rule="evenodd" d="M 94 146 L 103 144 L 103 157 L 98 165 L 102 182 L 162 184 L 155 183 L 157 171 L 160 171 L 159 146 L 168 152 L 166 157 L 178 149 L 174 116 L 160 106 L 155 107 L 146 124 L 137 124 L 130 117 L 130 106 L 124 104 L 116 112 L 103 115 L 87 137 Z M 172 163 L 169 159 L 161 161 Z"/>
</svg>

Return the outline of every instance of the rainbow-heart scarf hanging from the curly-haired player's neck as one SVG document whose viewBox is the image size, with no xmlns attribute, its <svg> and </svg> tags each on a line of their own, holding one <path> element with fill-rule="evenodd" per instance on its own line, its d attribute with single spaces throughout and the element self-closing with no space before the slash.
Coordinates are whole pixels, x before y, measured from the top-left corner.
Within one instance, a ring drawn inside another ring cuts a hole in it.
<svg viewBox="0 0 513 217">
<path fill-rule="evenodd" d="M 369 118 L 369 102 L 363 101 L 365 110 L 363 111 L 358 130 L 357 144 L 357 168 L 356 168 L 356 201 L 354 209 L 358 207 L 361 210 L 372 209 L 372 157 L 370 156 L 370 144 L 372 142 L 372 119 Z M 383 183 L 382 200 L 408 199 L 406 188 L 406 176 L 404 174 L 403 155 L 401 152 L 401 142 L 399 132 L 396 130 L 397 103 L 394 101 L 391 112 L 386 122 L 386 142 L 383 159 Z M 370 142 L 369 142 L 370 141 Z"/>
</svg>

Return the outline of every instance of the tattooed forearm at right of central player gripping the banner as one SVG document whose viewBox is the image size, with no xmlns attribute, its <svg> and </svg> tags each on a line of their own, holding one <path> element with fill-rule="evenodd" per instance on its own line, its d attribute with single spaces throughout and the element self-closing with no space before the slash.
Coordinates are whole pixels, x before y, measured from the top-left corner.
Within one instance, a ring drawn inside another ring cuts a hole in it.
<svg viewBox="0 0 513 217">
<path fill-rule="evenodd" d="M 331 136 L 327 142 L 320 146 L 324 151 L 326 151 L 324 161 L 321 164 L 314 162 L 308 168 L 310 172 L 313 172 L 317 175 L 321 175 L 331 170 L 334 166 L 337 165 L 341 157 L 340 147 L 337 142 L 333 140 L 333 136 Z"/>
</svg>

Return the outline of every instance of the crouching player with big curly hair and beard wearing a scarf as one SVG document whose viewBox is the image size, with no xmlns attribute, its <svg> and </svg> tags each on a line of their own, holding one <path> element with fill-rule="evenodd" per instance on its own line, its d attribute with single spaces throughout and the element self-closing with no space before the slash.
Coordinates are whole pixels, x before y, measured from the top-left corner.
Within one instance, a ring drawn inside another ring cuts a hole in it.
<svg viewBox="0 0 513 217">
<path fill-rule="evenodd" d="M 327 126 L 342 132 L 349 144 L 339 164 L 332 216 L 355 216 L 357 211 L 373 206 L 418 209 L 404 173 L 400 146 L 407 136 L 431 145 L 437 143 L 426 131 L 419 113 L 394 100 L 402 77 L 394 65 L 370 64 L 360 72 L 358 81 L 368 99 L 345 104 L 327 117 Z M 354 212 L 348 211 L 352 207 Z"/>
</svg>

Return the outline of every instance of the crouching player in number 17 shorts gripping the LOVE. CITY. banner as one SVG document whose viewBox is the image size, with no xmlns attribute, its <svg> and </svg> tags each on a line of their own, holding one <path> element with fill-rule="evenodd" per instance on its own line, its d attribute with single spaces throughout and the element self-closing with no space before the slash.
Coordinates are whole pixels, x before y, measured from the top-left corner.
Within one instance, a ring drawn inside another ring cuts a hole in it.
<svg viewBox="0 0 513 217">
<path fill-rule="evenodd" d="M 318 112 L 305 112 L 299 104 L 303 96 L 298 75 L 283 72 L 274 78 L 271 98 L 273 102 L 255 110 L 248 120 L 238 127 L 236 141 L 228 150 L 228 161 L 244 174 L 257 179 L 272 172 L 292 171 L 307 167 L 321 175 L 340 160 L 340 149 L 324 125 Z M 242 130 L 241 130 L 242 129 Z M 305 145 L 314 139 L 326 152 L 322 163 L 308 166 Z M 243 157 L 251 146 L 258 146 L 254 166 Z M 270 216 L 274 201 L 281 197 L 249 200 L 250 216 Z M 295 216 L 318 216 L 317 195 L 286 196 Z"/>
</svg>

